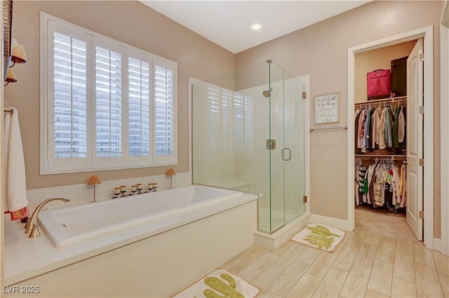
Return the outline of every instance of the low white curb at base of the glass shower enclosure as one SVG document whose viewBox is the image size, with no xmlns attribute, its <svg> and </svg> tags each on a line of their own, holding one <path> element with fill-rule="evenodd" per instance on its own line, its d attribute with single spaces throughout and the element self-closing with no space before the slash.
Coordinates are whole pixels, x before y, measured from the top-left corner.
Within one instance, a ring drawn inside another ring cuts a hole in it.
<svg viewBox="0 0 449 298">
<path fill-rule="evenodd" d="M 260 231 L 254 233 L 254 244 L 269 250 L 276 250 L 296 233 L 304 229 L 304 226 L 310 223 L 310 215 L 304 214 L 297 219 L 289 222 L 279 231 L 269 234 Z"/>
</svg>

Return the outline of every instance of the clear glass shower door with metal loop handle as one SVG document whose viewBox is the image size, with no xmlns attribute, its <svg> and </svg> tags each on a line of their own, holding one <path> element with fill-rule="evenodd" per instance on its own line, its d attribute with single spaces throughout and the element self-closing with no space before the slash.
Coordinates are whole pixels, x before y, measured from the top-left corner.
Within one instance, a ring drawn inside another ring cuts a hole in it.
<svg viewBox="0 0 449 298">
<path fill-rule="evenodd" d="M 269 232 L 305 212 L 304 82 L 269 63 Z"/>
</svg>

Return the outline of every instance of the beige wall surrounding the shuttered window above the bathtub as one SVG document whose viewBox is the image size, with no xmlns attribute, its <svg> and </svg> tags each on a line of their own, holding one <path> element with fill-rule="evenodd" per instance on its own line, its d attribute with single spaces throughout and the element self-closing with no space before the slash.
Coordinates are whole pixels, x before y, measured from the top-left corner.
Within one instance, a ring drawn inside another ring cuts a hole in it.
<svg viewBox="0 0 449 298">
<path fill-rule="evenodd" d="M 18 82 L 5 88 L 5 107 L 19 111 L 27 189 L 80 184 L 91 172 L 39 175 L 39 12 L 98 32 L 177 62 L 178 165 L 188 170 L 187 79 L 209 79 L 234 71 L 235 55 L 138 1 L 14 1 L 13 36 L 25 46 L 28 61 L 14 67 Z M 102 180 L 162 175 L 167 167 L 99 172 Z"/>
</svg>

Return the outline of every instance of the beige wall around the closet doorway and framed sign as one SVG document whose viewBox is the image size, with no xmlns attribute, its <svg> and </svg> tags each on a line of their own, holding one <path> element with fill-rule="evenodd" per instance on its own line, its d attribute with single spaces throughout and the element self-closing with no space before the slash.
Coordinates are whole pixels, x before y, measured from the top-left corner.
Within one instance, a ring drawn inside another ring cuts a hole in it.
<svg viewBox="0 0 449 298">
<path fill-rule="evenodd" d="M 340 92 L 340 125 L 344 125 L 347 123 L 347 49 L 429 25 L 434 26 L 434 36 L 438 37 L 441 12 L 441 1 L 373 1 L 243 51 L 236 55 L 236 68 L 272 59 L 295 76 L 310 74 L 311 98 Z M 440 238 L 440 54 L 436 37 L 434 237 Z M 311 213 L 347 219 L 347 133 L 350 132 L 322 130 L 311 133 Z"/>
</svg>

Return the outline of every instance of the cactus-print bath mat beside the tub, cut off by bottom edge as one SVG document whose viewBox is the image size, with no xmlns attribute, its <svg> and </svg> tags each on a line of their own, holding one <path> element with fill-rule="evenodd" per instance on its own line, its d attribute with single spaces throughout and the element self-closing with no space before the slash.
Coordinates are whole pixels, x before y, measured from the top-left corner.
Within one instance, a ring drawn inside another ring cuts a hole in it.
<svg viewBox="0 0 449 298">
<path fill-rule="evenodd" d="M 177 293 L 173 298 L 255 298 L 261 291 L 239 276 L 218 269 Z"/>
</svg>

